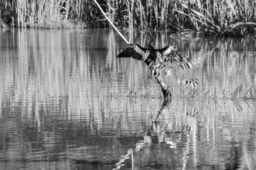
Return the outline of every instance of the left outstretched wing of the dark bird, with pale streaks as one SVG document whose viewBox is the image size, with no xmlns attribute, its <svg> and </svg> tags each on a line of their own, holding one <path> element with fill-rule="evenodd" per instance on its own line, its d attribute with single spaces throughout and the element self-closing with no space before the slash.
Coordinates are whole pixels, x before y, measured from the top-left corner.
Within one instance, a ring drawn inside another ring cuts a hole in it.
<svg viewBox="0 0 256 170">
<path fill-rule="evenodd" d="M 125 48 L 124 51 L 119 53 L 117 55 L 117 58 L 122 57 L 132 57 L 136 60 L 142 60 L 145 61 L 148 58 L 148 55 L 150 54 L 150 50 L 147 48 L 143 48 L 140 45 L 137 44 L 131 44 L 128 48 Z"/>
</svg>

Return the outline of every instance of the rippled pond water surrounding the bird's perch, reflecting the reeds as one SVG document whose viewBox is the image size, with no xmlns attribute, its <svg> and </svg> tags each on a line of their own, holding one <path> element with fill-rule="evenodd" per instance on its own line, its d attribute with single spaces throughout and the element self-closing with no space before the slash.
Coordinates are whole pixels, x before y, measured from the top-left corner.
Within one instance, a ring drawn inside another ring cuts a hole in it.
<svg viewBox="0 0 256 170">
<path fill-rule="evenodd" d="M 256 169 L 255 39 L 168 35 L 154 46 L 195 62 L 172 101 L 141 96 L 160 89 L 113 31 L 1 30 L 0 169 Z M 198 97 L 179 96 L 189 77 Z"/>
</svg>

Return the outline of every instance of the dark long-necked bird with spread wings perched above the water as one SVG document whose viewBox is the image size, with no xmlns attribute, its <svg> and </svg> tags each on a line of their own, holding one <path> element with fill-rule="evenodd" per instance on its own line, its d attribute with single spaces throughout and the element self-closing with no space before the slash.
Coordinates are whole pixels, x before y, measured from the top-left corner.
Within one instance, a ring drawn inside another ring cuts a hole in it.
<svg viewBox="0 0 256 170">
<path fill-rule="evenodd" d="M 192 67 L 191 63 L 189 62 L 189 59 L 180 55 L 180 52 L 178 50 L 175 50 L 174 46 L 167 45 L 164 48 L 155 49 L 152 46 L 152 42 L 154 41 L 154 39 L 151 36 L 151 34 L 149 32 L 144 33 L 149 38 L 147 48 L 143 48 L 142 46 L 136 43 L 129 44 L 128 47 L 125 48 L 125 50 L 119 53 L 116 57 L 132 57 L 133 59 L 145 62 L 145 64 L 147 64 L 148 67 L 158 62 L 165 62 L 168 60 L 170 60 L 171 62 L 178 61 L 181 69 L 189 69 Z"/>
</svg>

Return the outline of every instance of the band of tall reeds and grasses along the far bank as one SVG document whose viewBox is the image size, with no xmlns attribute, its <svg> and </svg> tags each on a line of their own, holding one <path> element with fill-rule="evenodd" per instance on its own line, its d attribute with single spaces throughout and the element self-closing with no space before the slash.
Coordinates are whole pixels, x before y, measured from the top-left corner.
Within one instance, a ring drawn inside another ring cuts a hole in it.
<svg viewBox="0 0 256 170">
<path fill-rule="evenodd" d="M 99 0 L 120 29 L 168 29 L 176 34 L 254 36 L 255 0 Z M 89 0 L 0 0 L 0 27 L 110 27 Z"/>
</svg>

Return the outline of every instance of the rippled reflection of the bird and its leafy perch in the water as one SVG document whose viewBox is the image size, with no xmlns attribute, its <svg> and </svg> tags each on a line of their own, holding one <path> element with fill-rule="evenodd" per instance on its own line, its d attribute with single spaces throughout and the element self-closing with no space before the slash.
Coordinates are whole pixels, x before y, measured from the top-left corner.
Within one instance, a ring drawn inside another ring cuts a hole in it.
<svg viewBox="0 0 256 170">
<path fill-rule="evenodd" d="M 154 145 L 167 145 L 170 148 L 176 148 L 177 143 L 182 138 L 182 135 L 189 134 L 191 131 L 191 125 L 183 124 L 173 127 L 173 121 L 170 118 L 165 118 L 170 114 L 170 103 L 172 99 L 164 98 L 161 108 L 158 111 L 155 118 L 152 118 L 150 129 L 144 136 L 144 139 L 136 143 L 136 151 L 140 152 L 145 147 Z M 198 115 L 198 111 L 195 108 L 186 111 L 187 118 L 195 118 Z M 193 121 L 192 121 L 193 122 Z"/>
</svg>

